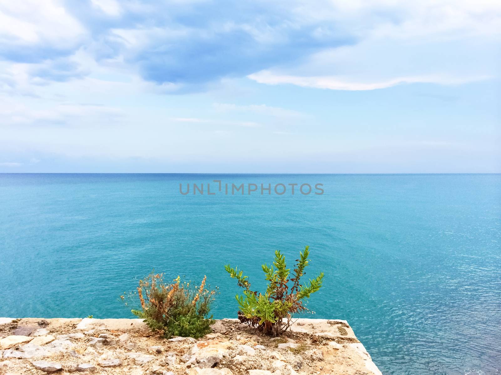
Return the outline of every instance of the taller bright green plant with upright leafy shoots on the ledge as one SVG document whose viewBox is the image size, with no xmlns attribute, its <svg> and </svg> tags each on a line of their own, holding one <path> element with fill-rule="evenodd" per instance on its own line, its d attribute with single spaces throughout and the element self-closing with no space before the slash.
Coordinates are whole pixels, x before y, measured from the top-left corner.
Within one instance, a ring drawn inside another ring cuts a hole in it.
<svg viewBox="0 0 501 375">
<path fill-rule="evenodd" d="M 300 279 L 310 262 L 309 254 L 309 246 L 300 251 L 300 258 L 296 259 L 293 271 L 294 277 L 289 278 L 291 272 L 287 268 L 285 255 L 276 250 L 273 265 L 262 265 L 265 279 L 268 280 L 264 293 L 250 290 L 248 277 L 243 275 L 243 271 L 226 264 L 224 269 L 232 278 L 236 278 L 238 286 L 244 289 L 243 295 L 236 295 L 240 322 L 258 327 L 259 331 L 274 336 L 289 329 L 292 324 L 292 314 L 307 311 L 308 308 L 303 304 L 304 299 L 309 298 L 311 293 L 318 291 L 322 286 L 324 272 L 320 272 L 320 275 L 310 279 L 306 284 L 300 284 Z M 292 286 L 289 285 L 289 281 L 292 281 Z"/>
</svg>

